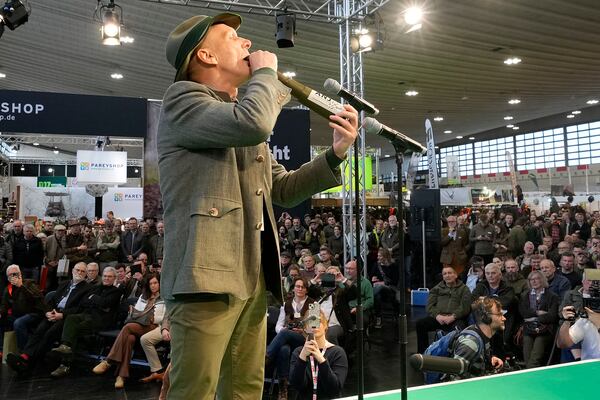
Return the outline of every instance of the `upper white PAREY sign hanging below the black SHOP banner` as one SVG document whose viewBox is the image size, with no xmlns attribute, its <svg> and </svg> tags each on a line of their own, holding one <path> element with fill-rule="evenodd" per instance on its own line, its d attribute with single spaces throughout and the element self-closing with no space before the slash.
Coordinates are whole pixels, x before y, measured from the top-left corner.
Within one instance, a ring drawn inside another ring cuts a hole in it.
<svg viewBox="0 0 600 400">
<path fill-rule="evenodd" d="M 126 183 L 127 152 L 78 150 L 77 182 Z"/>
</svg>

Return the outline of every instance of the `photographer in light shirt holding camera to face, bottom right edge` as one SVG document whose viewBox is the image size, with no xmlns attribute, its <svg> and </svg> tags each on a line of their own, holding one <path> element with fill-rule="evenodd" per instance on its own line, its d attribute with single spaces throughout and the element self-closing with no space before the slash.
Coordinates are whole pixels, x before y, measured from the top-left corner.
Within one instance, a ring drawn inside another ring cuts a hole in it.
<svg viewBox="0 0 600 400">
<path fill-rule="evenodd" d="M 560 327 L 557 345 L 561 349 L 581 343 L 581 360 L 600 358 L 600 313 L 585 309 L 587 318 L 576 318 L 573 306 L 562 309 L 563 323 Z M 573 322 L 575 321 L 575 322 Z"/>
</svg>

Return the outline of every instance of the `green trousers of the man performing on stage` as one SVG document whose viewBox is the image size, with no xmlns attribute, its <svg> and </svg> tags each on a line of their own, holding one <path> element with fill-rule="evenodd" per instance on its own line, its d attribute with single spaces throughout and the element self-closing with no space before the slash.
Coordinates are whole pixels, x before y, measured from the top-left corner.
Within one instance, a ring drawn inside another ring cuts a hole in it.
<svg viewBox="0 0 600 400">
<path fill-rule="evenodd" d="M 251 298 L 198 294 L 167 302 L 171 323 L 168 400 L 262 397 L 267 301 L 264 278 Z"/>
</svg>

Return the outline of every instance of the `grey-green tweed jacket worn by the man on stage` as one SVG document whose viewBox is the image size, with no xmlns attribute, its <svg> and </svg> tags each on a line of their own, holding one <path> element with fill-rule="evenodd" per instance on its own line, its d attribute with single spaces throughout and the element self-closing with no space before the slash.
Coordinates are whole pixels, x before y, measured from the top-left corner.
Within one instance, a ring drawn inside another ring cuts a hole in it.
<svg viewBox="0 0 600 400">
<path fill-rule="evenodd" d="M 163 298 L 225 293 L 244 300 L 261 274 L 282 298 L 272 203 L 291 207 L 339 184 L 325 154 L 290 172 L 272 158 L 265 142 L 289 92 L 268 68 L 255 71 L 239 102 L 191 81 L 167 89 L 157 141 Z"/>
</svg>

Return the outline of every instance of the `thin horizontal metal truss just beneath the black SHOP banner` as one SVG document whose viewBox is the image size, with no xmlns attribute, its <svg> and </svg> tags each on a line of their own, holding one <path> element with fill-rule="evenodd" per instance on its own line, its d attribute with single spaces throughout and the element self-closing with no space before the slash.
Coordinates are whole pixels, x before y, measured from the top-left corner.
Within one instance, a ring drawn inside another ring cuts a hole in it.
<svg viewBox="0 0 600 400">
<path fill-rule="evenodd" d="M 98 138 L 96 136 L 67 136 L 67 135 L 32 135 L 32 134 L 7 134 L 3 133 L 0 140 L 6 144 L 28 144 L 34 143 L 40 145 L 74 145 L 74 146 L 95 146 Z M 110 137 L 111 146 L 118 147 L 141 147 L 144 145 L 144 139 Z"/>
</svg>

